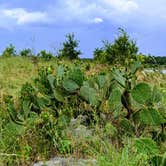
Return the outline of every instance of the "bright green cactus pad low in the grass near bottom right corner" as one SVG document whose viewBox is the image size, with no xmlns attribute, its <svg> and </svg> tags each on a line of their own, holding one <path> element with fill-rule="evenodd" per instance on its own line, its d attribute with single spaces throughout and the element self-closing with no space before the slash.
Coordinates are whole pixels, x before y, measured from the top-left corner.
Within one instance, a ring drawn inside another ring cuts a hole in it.
<svg viewBox="0 0 166 166">
<path fill-rule="evenodd" d="M 136 138 L 134 146 L 139 153 L 155 156 L 159 154 L 157 143 L 150 138 Z"/>
</svg>

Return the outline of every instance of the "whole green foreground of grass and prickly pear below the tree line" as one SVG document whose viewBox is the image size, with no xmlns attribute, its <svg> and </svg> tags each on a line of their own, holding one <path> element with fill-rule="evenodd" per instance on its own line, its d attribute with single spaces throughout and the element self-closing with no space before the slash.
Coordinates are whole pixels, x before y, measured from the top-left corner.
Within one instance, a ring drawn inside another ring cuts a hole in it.
<svg viewBox="0 0 166 166">
<path fill-rule="evenodd" d="M 101 166 L 165 165 L 164 76 L 162 86 L 152 84 L 155 74 L 145 77 L 139 61 L 127 68 L 26 57 L 0 63 L 0 164 L 73 156 Z"/>
</svg>

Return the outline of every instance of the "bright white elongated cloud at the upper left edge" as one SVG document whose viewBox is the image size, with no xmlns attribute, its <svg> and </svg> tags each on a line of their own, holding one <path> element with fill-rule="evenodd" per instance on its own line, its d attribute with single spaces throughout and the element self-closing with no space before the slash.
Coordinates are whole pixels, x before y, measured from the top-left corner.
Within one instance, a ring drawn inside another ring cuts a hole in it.
<svg viewBox="0 0 166 166">
<path fill-rule="evenodd" d="M 45 12 L 28 12 L 23 8 L 3 9 L 0 10 L 1 18 L 10 21 L 15 20 L 18 25 L 36 22 L 47 22 Z"/>
</svg>

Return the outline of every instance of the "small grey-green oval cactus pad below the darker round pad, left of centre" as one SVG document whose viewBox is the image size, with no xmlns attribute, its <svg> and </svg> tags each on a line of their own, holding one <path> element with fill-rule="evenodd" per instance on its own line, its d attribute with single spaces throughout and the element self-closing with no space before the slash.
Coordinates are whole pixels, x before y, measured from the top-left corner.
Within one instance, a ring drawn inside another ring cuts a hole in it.
<svg viewBox="0 0 166 166">
<path fill-rule="evenodd" d="M 63 81 L 63 87 L 69 92 L 74 92 L 75 90 L 79 89 L 77 83 L 70 79 L 66 79 Z"/>
</svg>

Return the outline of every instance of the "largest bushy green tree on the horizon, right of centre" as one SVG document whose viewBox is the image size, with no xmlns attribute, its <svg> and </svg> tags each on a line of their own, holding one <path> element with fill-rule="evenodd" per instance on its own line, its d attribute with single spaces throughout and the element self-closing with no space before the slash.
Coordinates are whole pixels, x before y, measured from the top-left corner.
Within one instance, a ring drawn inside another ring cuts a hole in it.
<svg viewBox="0 0 166 166">
<path fill-rule="evenodd" d="M 113 43 L 104 41 L 104 46 L 101 49 L 94 51 L 94 59 L 101 62 L 109 62 L 111 64 L 122 64 L 132 58 L 135 58 L 138 52 L 138 47 L 133 40 L 130 40 L 127 33 L 119 28 L 118 38 Z"/>
</svg>

